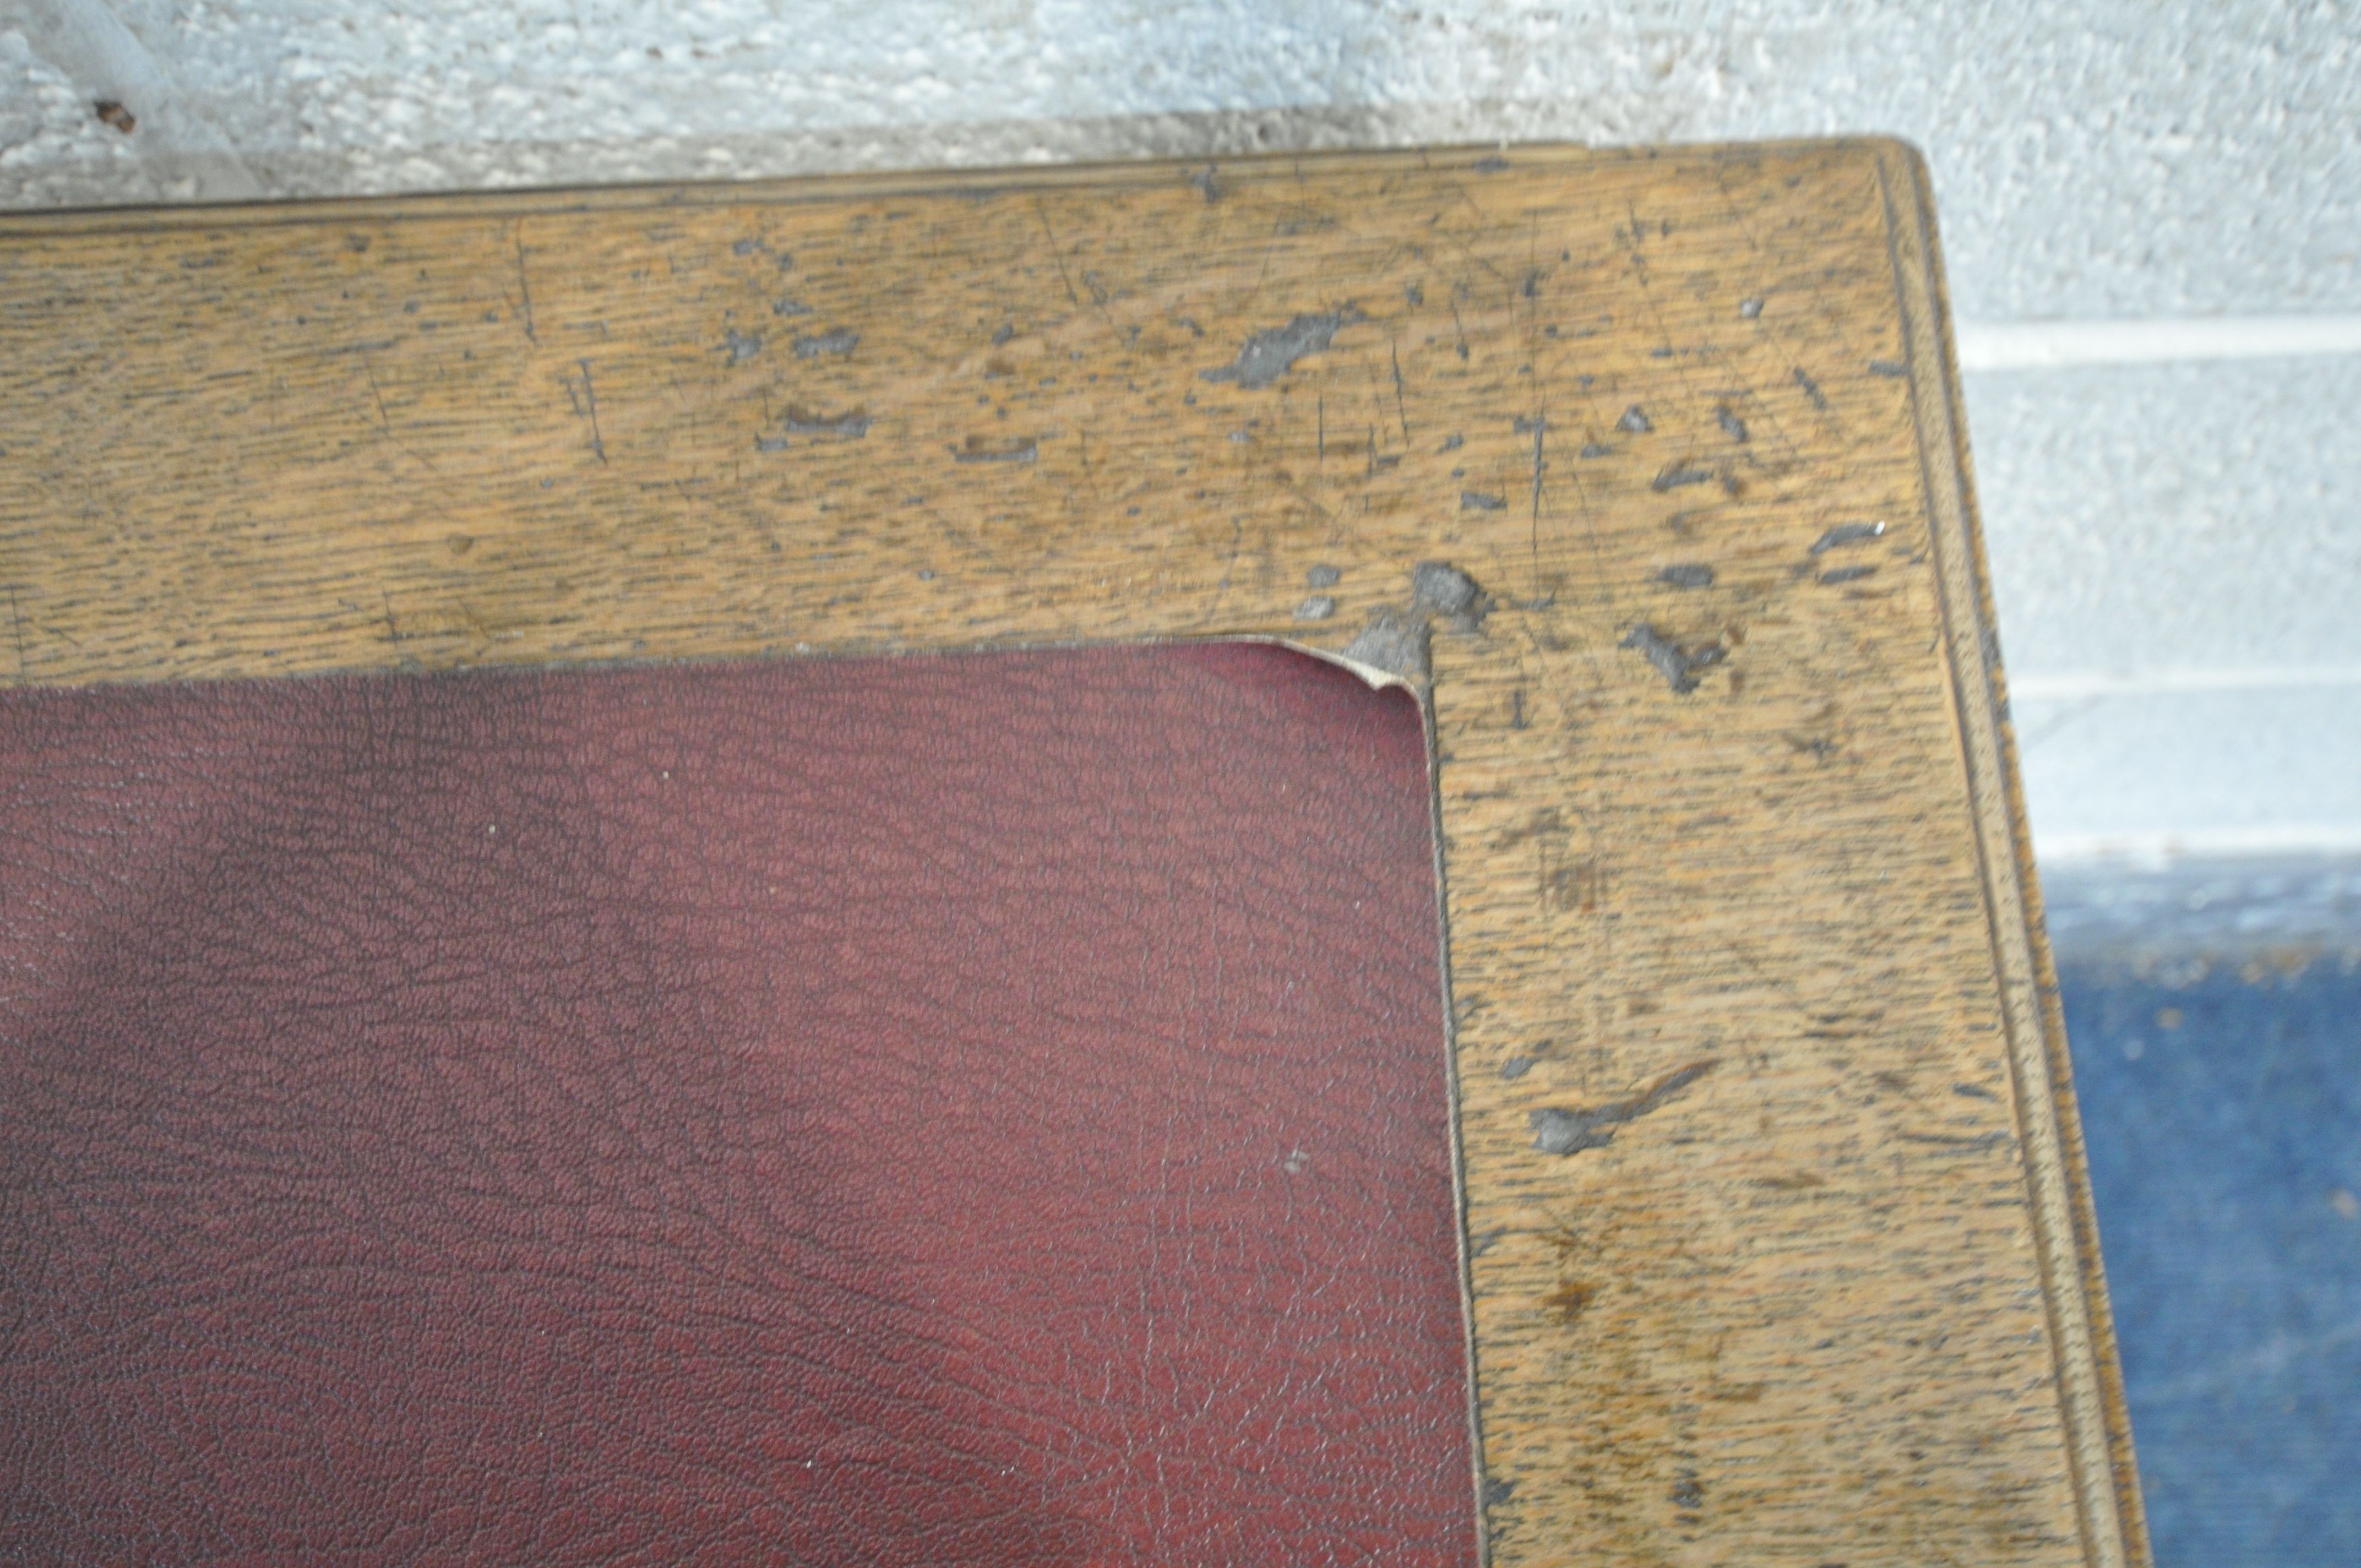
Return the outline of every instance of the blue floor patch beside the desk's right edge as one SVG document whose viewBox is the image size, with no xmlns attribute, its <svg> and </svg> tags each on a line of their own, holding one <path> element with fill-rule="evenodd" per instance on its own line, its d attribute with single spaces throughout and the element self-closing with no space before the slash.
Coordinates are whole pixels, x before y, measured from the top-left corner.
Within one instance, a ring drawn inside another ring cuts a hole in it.
<svg viewBox="0 0 2361 1568">
<path fill-rule="evenodd" d="M 2354 1566 L 2361 973 L 2182 980 L 2061 973 L 2156 1561 Z"/>
</svg>

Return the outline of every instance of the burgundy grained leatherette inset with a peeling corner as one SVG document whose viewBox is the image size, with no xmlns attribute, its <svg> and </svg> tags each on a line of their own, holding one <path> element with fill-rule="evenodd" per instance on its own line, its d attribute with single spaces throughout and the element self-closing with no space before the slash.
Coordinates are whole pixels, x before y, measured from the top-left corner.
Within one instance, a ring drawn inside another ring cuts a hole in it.
<svg viewBox="0 0 2361 1568">
<path fill-rule="evenodd" d="M 0 1559 L 1473 1563 L 1445 1070 L 1282 649 L 0 694 Z"/>
</svg>

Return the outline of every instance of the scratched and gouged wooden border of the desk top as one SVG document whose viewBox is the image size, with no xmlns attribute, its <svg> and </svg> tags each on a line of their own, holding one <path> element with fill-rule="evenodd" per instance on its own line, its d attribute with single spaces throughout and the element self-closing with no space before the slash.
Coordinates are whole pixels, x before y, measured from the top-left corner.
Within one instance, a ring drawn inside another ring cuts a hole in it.
<svg viewBox="0 0 2361 1568">
<path fill-rule="evenodd" d="M 21 682 L 1428 682 L 1492 1561 L 2146 1561 L 1908 149 L 9 217 L 0 409 Z"/>
</svg>

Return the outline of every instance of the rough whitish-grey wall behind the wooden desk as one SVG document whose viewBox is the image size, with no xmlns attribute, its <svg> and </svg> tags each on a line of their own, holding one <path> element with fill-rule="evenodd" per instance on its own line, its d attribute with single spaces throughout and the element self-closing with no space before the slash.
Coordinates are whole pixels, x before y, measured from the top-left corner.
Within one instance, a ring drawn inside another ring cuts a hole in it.
<svg viewBox="0 0 2361 1568">
<path fill-rule="evenodd" d="M 0 0 L 14 208 L 1910 137 L 2056 862 L 2361 845 L 2356 120 L 2342 0 Z"/>
</svg>

